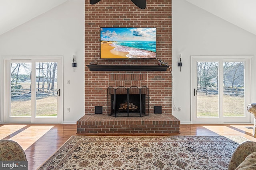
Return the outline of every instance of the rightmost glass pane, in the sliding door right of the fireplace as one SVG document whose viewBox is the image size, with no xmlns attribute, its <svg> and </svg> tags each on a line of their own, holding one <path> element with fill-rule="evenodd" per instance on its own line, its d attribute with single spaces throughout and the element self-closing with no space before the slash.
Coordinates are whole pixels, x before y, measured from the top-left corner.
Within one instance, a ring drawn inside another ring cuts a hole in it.
<svg viewBox="0 0 256 170">
<path fill-rule="evenodd" d="M 244 62 L 224 62 L 223 71 L 223 115 L 245 117 Z"/>
</svg>

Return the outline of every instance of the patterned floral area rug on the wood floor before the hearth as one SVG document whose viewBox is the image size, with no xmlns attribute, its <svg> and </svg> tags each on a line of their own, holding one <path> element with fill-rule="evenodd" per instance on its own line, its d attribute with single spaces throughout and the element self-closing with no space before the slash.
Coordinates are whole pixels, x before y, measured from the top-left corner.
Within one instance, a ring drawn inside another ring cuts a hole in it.
<svg viewBox="0 0 256 170">
<path fill-rule="evenodd" d="M 72 136 L 38 169 L 226 170 L 238 145 L 223 136 Z"/>
</svg>

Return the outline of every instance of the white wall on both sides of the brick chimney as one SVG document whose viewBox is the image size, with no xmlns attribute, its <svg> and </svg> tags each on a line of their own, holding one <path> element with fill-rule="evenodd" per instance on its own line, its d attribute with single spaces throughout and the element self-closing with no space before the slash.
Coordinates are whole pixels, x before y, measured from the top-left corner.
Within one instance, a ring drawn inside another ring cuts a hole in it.
<svg viewBox="0 0 256 170">
<path fill-rule="evenodd" d="M 181 123 L 191 123 L 191 55 L 255 56 L 256 35 L 185 0 L 172 0 L 172 31 L 174 104 L 181 107 L 181 111 L 174 111 L 173 115 Z M 78 63 L 75 72 L 72 68 L 74 53 Z M 179 54 L 182 54 L 181 72 L 177 66 Z M 0 57 L 6 55 L 64 56 L 64 123 L 76 123 L 84 115 L 83 1 L 68 1 L 0 35 Z M 2 64 L 2 58 L 0 61 Z M 255 59 L 252 65 L 256 65 Z M 252 68 L 254 73 L 256 68 Z M 0 71 L 3 71 L 2 65 Z M 66 84 L 67 80 L 70 85 Z M 0 83 L 2 89 L 2 77 Z M 252 102 L 256 102 L 255 85 L 256 74 L 252 74 Z M 67 107 L 70 107 L 70 113 Z M 2 115 L 2 104 L 0 111 Z"/>
</svg>

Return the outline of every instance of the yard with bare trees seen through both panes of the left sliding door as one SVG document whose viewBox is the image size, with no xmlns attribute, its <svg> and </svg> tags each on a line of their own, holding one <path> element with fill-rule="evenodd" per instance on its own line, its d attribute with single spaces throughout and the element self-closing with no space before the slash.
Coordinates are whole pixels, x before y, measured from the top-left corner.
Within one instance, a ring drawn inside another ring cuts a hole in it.
<svg viewBox="0 0 256 170">
<path fill-rule="evenodd" d="M 31 116 L 31 63 L 11 63 L 11 116 Z M 36 63 L 36 115 L 57 115 L 57 63 Z M 47 108 L 47 109 L 46 109 Z"/>
</svg>

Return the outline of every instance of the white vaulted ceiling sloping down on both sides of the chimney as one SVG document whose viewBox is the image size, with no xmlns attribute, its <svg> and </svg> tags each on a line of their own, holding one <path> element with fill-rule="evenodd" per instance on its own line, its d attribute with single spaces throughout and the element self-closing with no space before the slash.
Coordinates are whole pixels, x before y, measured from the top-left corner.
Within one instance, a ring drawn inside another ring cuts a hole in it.
<svg viewBox="0 0 256 170">
<path fill-rule="evenodd" d="M 0 0 L 0 35 L 68 0 Z M 186 0 L 256 35 L 256 0 Z"/>
</svg>

